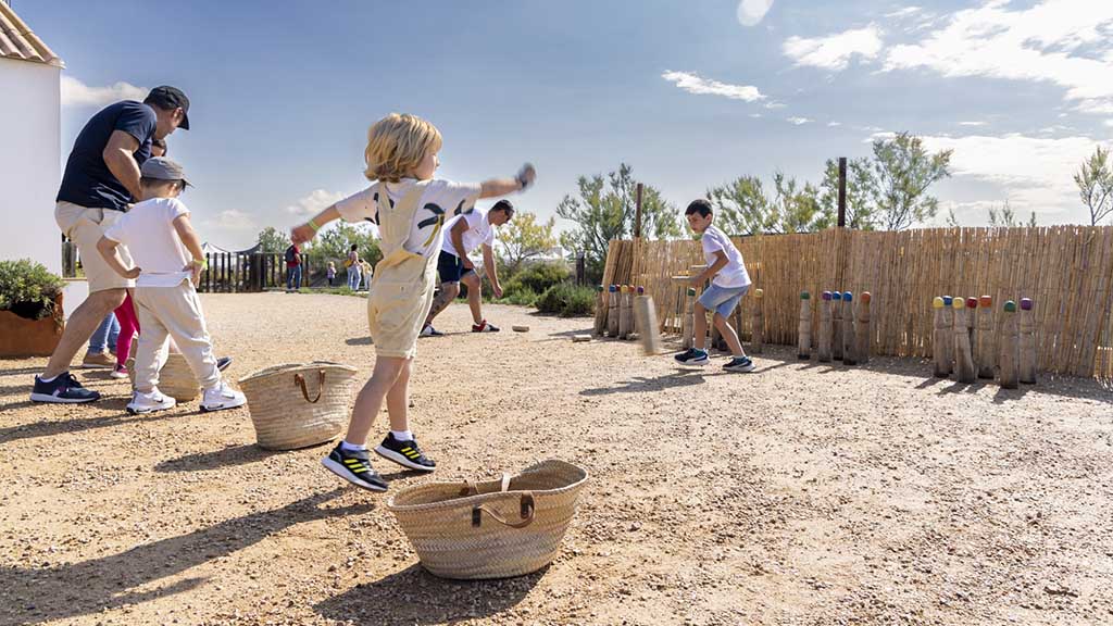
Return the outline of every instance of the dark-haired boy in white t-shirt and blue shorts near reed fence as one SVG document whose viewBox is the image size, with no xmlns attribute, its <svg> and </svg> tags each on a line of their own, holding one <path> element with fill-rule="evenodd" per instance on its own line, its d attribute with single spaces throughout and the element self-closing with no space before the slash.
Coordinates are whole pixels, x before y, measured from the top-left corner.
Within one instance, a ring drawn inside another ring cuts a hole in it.
<svg viewBox="0 0 1113 626">
<path fill-rule="evenodd" d="M 708 363 L 705 350 L 707 312 L 715 311 L 715 327 L 719 329 L 731 353 L 730 361 L 722 369 L 728 372 L 752 372 L 754 362 L 742 352 L 742 343 L 738 341 L 738 334 L 730 326 L 730 314 L 750 288 L 750 274 L 746 271 L 746 263 L 742 262 L 742 253 L 738 252 L 730 237 L 711 224 L 715 219 L 711 203 L 706 199 L 692 202 L 684 209 L 684 217 L 688 218 L 688 225 L 692 231 L 701 233 L 700 243 L 703 245 L 703 257 L 707 260 L 707 270 L 688 278 L 688 283 L 698 286 L 710 280 L 711 286 L 696 301 L 695 346 L 677 354 L 676 359 L 686 365 Z"/>
</svg>

